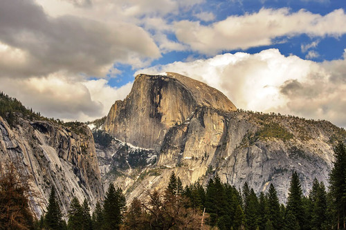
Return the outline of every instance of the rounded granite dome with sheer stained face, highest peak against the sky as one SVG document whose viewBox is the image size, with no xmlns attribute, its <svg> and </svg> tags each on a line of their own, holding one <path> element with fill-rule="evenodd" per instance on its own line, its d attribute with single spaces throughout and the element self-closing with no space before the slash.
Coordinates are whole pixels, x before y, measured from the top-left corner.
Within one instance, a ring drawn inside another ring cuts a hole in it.
<svg viewBox="0 0 346 230">
<path fill-rule="evenodd" d="M 158 151 L 167 131 L 202 106 L 236 110 L 215 88 L 183 75 L 138 75 L 126 99 L 111 107 L 104 129 L 118 140 Z"/>
</svg>

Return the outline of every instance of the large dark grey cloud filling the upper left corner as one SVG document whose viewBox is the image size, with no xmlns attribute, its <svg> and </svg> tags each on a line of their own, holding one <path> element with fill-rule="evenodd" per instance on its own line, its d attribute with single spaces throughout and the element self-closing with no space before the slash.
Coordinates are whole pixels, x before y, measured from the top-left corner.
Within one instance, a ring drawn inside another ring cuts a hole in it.
<svg viewBox="0 0 346 230">
<path fill-rule="evenodd" d="M 107 26 L 73 16 L 53 18 L 30 0 L 0 1 L 0 42 L 25 56 L 19 63 L 0 60 L 1 75 L 12 77 L 58 70 L 100 76 L 114 61 L 160 56 L 142 28 L 127 23 Z"/>
</svg>

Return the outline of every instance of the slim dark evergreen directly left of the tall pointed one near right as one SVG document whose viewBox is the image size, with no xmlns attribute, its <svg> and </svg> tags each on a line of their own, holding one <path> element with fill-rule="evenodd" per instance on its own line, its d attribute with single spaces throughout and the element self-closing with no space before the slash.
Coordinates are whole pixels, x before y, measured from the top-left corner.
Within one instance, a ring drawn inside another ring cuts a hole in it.
<svg viewBox="0 0 346 230">
<path fill-rule="evenodd" d="M 271 220 L 274 229 L 282 229 L 282 215 L 280 213 L 280 202 L 273 184 L 268 190 L 268 220 Z"/>
</svg>

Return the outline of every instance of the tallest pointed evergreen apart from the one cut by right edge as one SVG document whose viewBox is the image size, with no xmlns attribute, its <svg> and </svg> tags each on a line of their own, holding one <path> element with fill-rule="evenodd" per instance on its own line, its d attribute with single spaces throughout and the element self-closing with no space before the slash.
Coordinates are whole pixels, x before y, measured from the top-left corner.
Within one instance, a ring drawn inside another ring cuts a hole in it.
<svg viewBox="0 0 346 230">
<path fill-rule="evenodd" d="M 289 197 L 287 198 L 286 211 L 295 216 L 295 220 L 298 221 L 301 228 L 304 224 L 304 207 L 302 196 L 302 186 L 300 185 L 298 174 L 294 171 L 292 173 L 291 183 L 289 186 Z"/>
</svg>

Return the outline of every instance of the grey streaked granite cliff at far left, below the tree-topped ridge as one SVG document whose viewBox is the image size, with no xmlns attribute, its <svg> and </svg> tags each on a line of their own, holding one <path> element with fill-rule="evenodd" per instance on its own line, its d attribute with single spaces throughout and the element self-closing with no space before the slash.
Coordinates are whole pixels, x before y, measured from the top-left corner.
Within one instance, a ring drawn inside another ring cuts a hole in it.
<svg viewBox="0 0 346 230">
<path fill-rule="evenodd" d="M 52 187 L 64 214 L 73 196 L 81 202 L 86 198 L 91 207 L 103 198 L 93 136 L 82 124 L 69 127 L 18 117 L 10 127 L 0 117 L 0 161 L 32 175 L 30 189 L 37 197 L 31 205 L 37 215 L 46 210 Z"/>
</svg>

